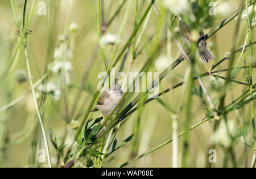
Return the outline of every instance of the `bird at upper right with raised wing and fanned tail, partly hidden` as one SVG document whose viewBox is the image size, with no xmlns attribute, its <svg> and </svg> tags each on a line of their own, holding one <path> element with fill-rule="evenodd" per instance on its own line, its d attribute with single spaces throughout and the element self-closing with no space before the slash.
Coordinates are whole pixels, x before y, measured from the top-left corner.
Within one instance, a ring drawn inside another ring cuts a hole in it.
<svg viewBox="0 0 256 179">
<path fill-rule="evenodd" d="M 178 17 L 179 17 L 179 31 L 180 31 L 181 41 L 189 49 L 191 48 L 191 42 L 192 42 L 191 33 L 187 25 L 181 21 L 180 16 Z M 209 61 L 214 60 L 214 56 L 212 52 L 210 52 L 210 50 L 207 47 L 207 42 L 205 41 L 205 36 L 203 31 L 199 33 L 199 40 L 197 41 L 197 54 L 199 56 L 200 61 L 204 63 L 208 63 Z"/>
</svg>

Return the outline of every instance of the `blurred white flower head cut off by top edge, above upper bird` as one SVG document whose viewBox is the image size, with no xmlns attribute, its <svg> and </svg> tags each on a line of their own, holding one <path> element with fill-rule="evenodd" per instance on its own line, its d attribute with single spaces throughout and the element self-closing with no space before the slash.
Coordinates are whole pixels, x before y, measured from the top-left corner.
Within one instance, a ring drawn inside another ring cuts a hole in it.
<svg viewBox="0 0 256 179">
<path fill-rule="evenodd" d="M 163 0 L 163 4 L 175 14 L 179 14 L 181 11 L 188 8 L 187 0 Z"/>
</svg>

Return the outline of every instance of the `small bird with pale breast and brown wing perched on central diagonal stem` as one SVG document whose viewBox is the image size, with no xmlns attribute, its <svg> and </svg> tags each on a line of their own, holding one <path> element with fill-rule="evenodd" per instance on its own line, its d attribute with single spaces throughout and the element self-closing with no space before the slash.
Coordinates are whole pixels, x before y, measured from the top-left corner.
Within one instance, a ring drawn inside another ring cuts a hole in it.
<svg viewBox="0 0 256 179">
<path fill-rule="evenodd" d="M 114 82 L 110 85 L 110 88 L 104 91 L 101 96 L 98 98 L 96 108 L 92 109 L 90 112 L 95 112 L 100 110 L 103 115 L 101 124 L 105 121 L 105 117 L 108 117 L 112 112 L 114 107 L 118 104 L 119 100 L 123 96 L 122 88 L 118 82 Z M 104 126 L 106 130 L 106 127 Z"/>
</svg>

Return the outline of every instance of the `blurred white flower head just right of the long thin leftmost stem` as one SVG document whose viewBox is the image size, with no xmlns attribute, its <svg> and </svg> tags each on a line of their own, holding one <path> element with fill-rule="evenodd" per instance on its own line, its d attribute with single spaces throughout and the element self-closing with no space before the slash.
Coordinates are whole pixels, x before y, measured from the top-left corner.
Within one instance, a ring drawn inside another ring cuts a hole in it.
<svg viewBox="0 0 256 179">
<path fill-rule="evenodd" d="M 49 81 L 47 84 L 40 84 L 38 86 L 38 91 L 48 93 L 56 101 L 59 100 L 61 96 L 60 89 L 52 81 Z"/>
</svg>

